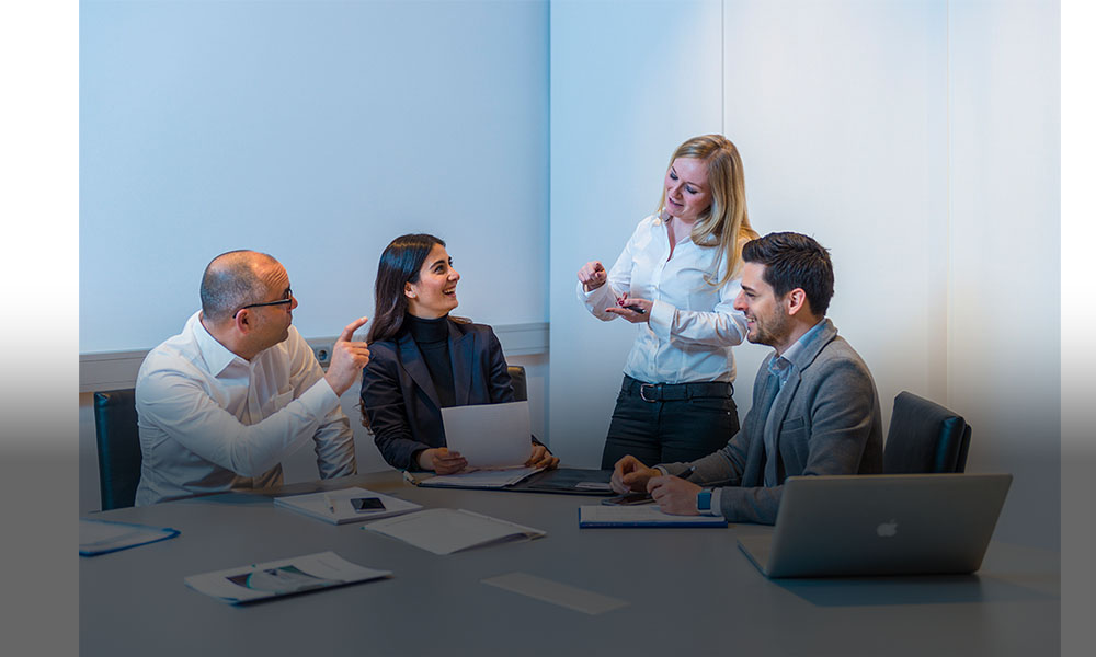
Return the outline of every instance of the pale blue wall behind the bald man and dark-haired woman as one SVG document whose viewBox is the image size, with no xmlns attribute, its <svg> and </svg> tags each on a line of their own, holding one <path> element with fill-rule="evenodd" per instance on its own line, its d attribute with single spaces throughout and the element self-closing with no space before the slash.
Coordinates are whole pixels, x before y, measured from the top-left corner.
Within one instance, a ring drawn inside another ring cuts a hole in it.
<svg viewBox="0 0 1096 657">
<path fill-rule="evenodd" d="M 460 312 L 547 320 L 547 2 L 81 3 L 80 351 L 146 349 L 216 254 L 289 272 L 305 337 L 432 232 Z M 499 303 L 505 299 L 505 303 Z"/>
</svg>

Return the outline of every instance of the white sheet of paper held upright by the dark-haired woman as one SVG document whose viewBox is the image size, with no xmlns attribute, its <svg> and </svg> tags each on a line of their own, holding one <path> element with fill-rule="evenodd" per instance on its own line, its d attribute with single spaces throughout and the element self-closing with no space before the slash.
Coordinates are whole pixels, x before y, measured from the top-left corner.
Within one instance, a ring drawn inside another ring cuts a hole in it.
<svg viewBox="0 0 1096 657">
<path fill-rule="evenodd" d="M 442 408 L 442 425 L 446 446 L 469 468 L 522 465 L 533 453 L 528 402 Z"/>
</svg>

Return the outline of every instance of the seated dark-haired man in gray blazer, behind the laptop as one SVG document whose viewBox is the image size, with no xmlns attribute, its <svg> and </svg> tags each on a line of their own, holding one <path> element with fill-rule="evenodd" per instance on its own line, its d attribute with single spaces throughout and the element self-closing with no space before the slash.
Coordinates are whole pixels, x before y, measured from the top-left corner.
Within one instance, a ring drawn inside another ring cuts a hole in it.
<svg viewBox="0 0 1096 657">
<path fill-rule="evenodd" d="M 776 350 L 757 371 L 753 406 L 727 446 L 690 463 L 617 461 L 613 488 L 648 491 L 670 514 L 776 522 L 784 480 L 882 471 L 879 394 L 860 356 L 825 319 L 830 254 L 799 233 L 769 233 L 742 249 L 734 308 L 752 343 Z"/>
</svg>

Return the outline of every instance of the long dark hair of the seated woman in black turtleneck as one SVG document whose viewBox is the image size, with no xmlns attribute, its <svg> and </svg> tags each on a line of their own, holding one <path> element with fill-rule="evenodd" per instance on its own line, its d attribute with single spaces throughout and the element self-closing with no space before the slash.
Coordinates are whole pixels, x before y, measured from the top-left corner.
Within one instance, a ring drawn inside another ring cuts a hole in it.
<svg viewBox="0 0 1096 657">
<path fill-rule="evenodd" d="M 403 290 L 409 283 L 419 283 L 419 270 L 434 246 L 445 242 L 434 235 L 415 233 L 400 235 L 380 254 L 373 324 L 367 342 L 392 339 L 403 327 L 408 298 Z"/>
</svg>

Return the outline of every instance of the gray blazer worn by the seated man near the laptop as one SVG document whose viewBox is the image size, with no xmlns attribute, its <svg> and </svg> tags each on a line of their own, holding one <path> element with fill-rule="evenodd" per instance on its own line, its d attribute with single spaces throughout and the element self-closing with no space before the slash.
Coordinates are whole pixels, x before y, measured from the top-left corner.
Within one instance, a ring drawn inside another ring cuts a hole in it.
<svg viewBox="0 0 1096 657">
<path fill-rule="evenodd" d="M 727 446 L 692 463 L 663 465 L 670 474 L 696 465 L 690 482 L 727 486 L 719 493 L 720 507 L 732 522 L 775 523 L 789 476 L 882 472 L 882 415 L 868 366 L 830 320 L 803 347 L 773 402 L 775 422 L 754 411 L 762 404 L 774 353 L 757 371 L 753 407 Z M 763 485 L 766 426 L 776 433 L 779 452 L 774 487 Z"/>
</svg>

